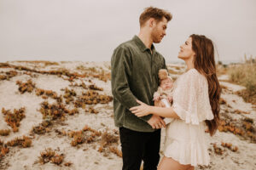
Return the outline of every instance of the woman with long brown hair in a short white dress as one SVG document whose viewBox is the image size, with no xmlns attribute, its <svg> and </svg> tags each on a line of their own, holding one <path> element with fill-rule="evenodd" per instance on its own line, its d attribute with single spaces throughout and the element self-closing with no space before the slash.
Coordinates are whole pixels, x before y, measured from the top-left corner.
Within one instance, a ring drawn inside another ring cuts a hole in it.
<svg viewBox="0 0 256 170">
<path fill-rule="evenodd" d="M 178 58 L 186 62 L 188 71 L 174 84 L 172 107 L 150 106 L 137 100 L 141 105 L 131 108 L 136 116 L 155 114 L 175 118 L 166 127 L 160 170 L 208 165 L 210 157 L 205 130 L 207 128 L 212 136 L 218 127 L 221 88 L 216 76 L 212 41 L 193 34 L 180 47 Z"/>
</svg>

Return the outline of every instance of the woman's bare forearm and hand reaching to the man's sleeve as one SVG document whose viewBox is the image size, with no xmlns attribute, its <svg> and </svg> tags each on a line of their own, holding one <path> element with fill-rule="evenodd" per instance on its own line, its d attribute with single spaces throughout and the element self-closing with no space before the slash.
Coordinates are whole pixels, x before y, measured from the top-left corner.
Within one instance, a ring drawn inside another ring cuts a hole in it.
<svg viewBox="0 0 256 170">
<path fill-rule="evenodd" d="M 137 103 L 139 103 L 140 105 L 131 107 L 130 111 L 138 117 L 154 114 L 154 115 L 163 116 L 163 117 L 172 117 L 172 118 L 180 119 L 179 116 L 177 116 L 176 112 L 173 111 L 172 107 L 166 108 L 166 107 L 146 105 L 139 100 L 137 100 Z"/>
</svg>

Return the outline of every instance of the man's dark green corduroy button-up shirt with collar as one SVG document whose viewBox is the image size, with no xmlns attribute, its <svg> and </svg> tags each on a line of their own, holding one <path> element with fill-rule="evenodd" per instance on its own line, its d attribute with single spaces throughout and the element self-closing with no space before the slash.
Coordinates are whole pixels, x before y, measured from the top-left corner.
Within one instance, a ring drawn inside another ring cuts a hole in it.
<svg viewBox="0 0 256 170">
<path fill-rule="evenodd" d="M 159 85 L 158 71 L 166 69 L 163 56 L 151 47 L 152 53 L 141 39 L 134 36 L 115 48 L 111 59 L 111 86 L 113 117 L 117 127 L 139 132 L 154 132 L 148 120 L 152 115 L 137 117 L 129 111 L 139 99 L 154 105 L 153 95 Z"/>
</svg>

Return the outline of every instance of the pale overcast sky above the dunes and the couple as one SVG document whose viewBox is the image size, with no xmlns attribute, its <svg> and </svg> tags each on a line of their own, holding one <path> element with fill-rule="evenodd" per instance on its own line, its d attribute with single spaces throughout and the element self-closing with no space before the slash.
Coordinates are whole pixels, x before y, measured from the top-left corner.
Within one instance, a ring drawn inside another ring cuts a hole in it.
<svg viewBox="0 0 256 170">
<path fill-rule="evenodd" d="M 139 31 L 143 8 L 173 15 L 156 49 L 178 61 L 190 34 L 210 37 L 216 60 L 256 56 L 255 0 L 0 0 L 0 62 L 109 61 L 119 43 Z"/>
</svg>

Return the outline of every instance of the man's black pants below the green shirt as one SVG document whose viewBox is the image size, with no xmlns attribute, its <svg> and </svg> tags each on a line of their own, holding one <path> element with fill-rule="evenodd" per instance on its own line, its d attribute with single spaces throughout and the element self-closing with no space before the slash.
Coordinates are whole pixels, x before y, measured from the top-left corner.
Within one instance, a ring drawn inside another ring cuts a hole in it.
<svg viewBox="0 0 256 170">
<path fill-rule="evenodd" d="M 123 170 L 156 170 L 160 160 L 160 129 L 143 133 L 119 127 L 123 152 Z"/>
</svg>

